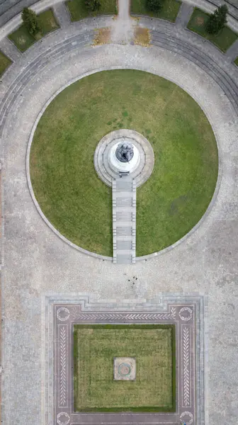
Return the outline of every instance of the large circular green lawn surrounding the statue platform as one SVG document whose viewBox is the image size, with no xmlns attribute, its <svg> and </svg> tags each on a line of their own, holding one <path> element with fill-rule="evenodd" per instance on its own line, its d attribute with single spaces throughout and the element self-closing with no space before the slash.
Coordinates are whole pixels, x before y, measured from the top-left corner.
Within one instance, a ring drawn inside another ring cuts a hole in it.
<svg viewBox="0 0 238 425">
<path fill-rule="evenodd" d="M 200 220 L 217 181 L 217 145 L 198 103 L 176 84 L 135 70 L 98 72 L 47 107 L 30 150 L 35 197 L 52 225 L 84 249 L 112 255 L 112 202 L 94 150 L 112 130 L 145 135 L 154 171 L 137 189 L 137 256 L 159 251 Z"/>
</svg>

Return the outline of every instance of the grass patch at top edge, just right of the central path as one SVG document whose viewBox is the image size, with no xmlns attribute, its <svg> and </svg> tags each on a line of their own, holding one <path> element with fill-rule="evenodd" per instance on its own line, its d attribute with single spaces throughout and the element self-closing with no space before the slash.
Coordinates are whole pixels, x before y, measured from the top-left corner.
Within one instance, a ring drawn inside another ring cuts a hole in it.
<svg viewBox="0 0 238 425">
<path fill-rule="evenodd" d="M 146 0 L 132 0 L 131 13 L 135 15 L 148 15 L 154 18 L 166 19 L 166 21 L 174 22 L 179 13 L 181 1 L 164 0 L 162 2 L 162 9 L 158 13 L 147 10 Z"/>
</svg>

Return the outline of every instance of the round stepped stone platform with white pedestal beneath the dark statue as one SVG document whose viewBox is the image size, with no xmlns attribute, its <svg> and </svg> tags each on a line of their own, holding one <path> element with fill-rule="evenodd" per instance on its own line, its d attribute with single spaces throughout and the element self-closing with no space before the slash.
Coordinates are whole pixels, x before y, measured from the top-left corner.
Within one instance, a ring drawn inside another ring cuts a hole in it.
<svg viewBox="0 0 238 425">
<path fill-rule="evenodd" d="M 115 152 L 123 142 L 133 145 L 133 157 L 129 162 L 120 162 Z M 134 130 L 115 130 L 104 136 L 94 153 L 94 167 L 100 179 L 108 186 L 120 172 L 130 173 L 136 186 L 141 186 L 152 174 L 154 151 L 146 137 Z"/>
</svg>

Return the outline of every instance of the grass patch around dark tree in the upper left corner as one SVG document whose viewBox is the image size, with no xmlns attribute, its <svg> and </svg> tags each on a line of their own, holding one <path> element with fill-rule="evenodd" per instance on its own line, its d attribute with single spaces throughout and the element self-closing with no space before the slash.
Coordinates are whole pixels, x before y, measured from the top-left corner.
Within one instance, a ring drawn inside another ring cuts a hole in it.
<svg viewBox="0 0 238 425">
<path fill-rule="evenodd" d="M 40 40 L 42 36 L 59 28 L 52 9 L 48 9 L 47 11 L 40 13 L 38 18 L 42 28 L 42 33 L 37 33 L 33 36 L 28 32 L 26 26 L 22 24 L 16 31 L 8 35 L 8 38 L 13 41 L 18 50 L 21 50 L 21 52 L 25 52 L 25 50 L 33 45 L 34 42 Z"/>
</svg>

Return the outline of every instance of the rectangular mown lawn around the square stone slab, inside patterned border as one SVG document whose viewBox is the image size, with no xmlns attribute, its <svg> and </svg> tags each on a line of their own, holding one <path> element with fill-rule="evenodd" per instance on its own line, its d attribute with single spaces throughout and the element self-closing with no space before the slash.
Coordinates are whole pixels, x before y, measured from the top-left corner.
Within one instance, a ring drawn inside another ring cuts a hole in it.
<svg viewBox="0 0 238 425">
<path fill-rule="evenodd" d="M 136 379 L 113 380 L 113 358 L 135 357 Z M 175 326 L 75 325 L 74 410 L 173 412 Z"/>
</svg>

